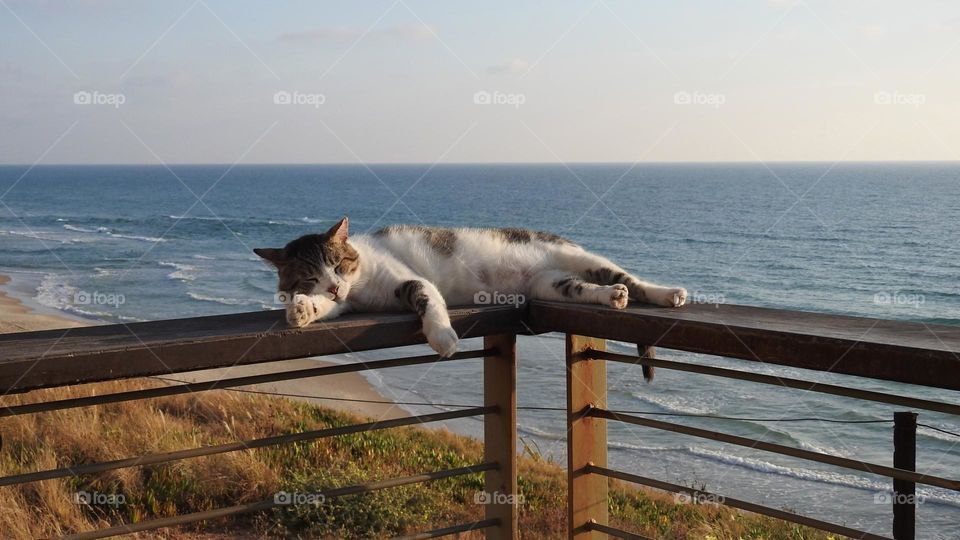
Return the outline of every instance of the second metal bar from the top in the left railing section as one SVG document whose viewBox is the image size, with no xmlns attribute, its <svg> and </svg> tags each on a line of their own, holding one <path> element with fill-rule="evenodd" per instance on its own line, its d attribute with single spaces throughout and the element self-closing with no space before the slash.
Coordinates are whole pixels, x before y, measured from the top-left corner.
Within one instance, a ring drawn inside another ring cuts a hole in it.
<svg viewBox="0 0 960 540">
<path fill-rule="evenodd" d="M 0 486 L 9 486 L 14 484 L 23 484 L 25 482 L 36 482 L 38 480 L 49 480 L 51 478 L 63 478 L 66 476 L 80 476 L 83 474 L 92 474 L 125 467 L 138 467 L 143 465 L 155 465 L 157 463 L 166 463 L 180 459 L 195 458 L 201 456 L 210 456 L 223 454 L 226 452 L 237 452 L 240 450 L 251 450 L 254 448 L 263 448 L 266 446 L 277 446 L 299 441 L 309 441 L 335 437 L 338 435 L 347 435 L 350 433 L 363 433 L 380 429 L 394 428 L 400 426 L 409 426 L 414 424 L 424 424 L 428 422 L 438 422 L 441 420 L 451 420 L 454 418 L 465 418 L 468 416 L 479 416 L 498 412 L 497 407 L 474 407 L 459 411 L 448 411 L 442 413 L 424 414 L 420 416 L 409 416 L 405 418 L 396 418 L 392 420 L 380 420 L 378 422 L 368 422 L 365 424 L 353 424 L 350 426 L 340 426 L 335 428 L 317 429 L 312 431 L 302 431 L 299 433 L 289 433 L 287 435 L 277 435 L 263 439 L 253 439 L 250 441 L 238 441 L 233 443 L 218 444 L 213 446 L 203 446 L 200 448 L 191 448 L 188 450 L 178 450 L 175 452 L 165 452 L 161 454 L 147 454 L 145 456 L 118 459 L 114 461 L 103 461 L 99 463 L 87 463 L 75 467 L 63 467 L 60 469 L 49 469 L 46 471 L 37 471 L 32 473 L 15 474 L 11 476 L 0 477 Z"/>
</svg>

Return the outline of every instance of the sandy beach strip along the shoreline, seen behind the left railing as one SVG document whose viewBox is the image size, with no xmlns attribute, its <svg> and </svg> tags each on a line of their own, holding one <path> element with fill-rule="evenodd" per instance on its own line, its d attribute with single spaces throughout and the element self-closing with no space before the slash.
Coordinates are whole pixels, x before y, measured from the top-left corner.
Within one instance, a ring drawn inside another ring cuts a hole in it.
<svg viewBox="0 0 960 540">
<path fill-rule="evenodd" d="M 75 328 L 94 324 L 85 321 L 70 319 L 57 315 L 37 313 L 14 296 L 4 290 L 10 278 L 0 275 L 0 333 L 29 332 L 33 330 L 49 330 L 54 328 Z M 270 362 L 249 366 L 235 366 L 231 368 L 195 371 L 190 373 L 175 373 L 168 378 L 181 381 L 208 381 L 227 377 L 240 377 L 273 371 L 288 371 L 332 365 L 309 358 Z M 323 396 L 326 398 L 390 401 L 379 392 L 360 374 L 344 373 L 327 377 L 313 377 L 293 381 L 253 385 L 242 387 L 263 392 L 280 392 L 299 396 Z M 300 401 L 315 403 L 324 407 L 373 418 L 375 420 L 398 418 L 408 413 L 391 403 L 364 403 L 363 401 L 336 401 L 330 399 L 313 399 L 307 397 L 294 398 Z"/>
</svg>

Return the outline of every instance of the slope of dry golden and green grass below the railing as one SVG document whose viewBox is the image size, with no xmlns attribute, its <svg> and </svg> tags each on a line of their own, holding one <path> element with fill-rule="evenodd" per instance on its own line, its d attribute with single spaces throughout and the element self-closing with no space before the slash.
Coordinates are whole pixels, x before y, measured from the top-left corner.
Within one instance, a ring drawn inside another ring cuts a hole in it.
<svg viewBox="0 0 960 540">
<path fill-rule="evenodd" d="M 4 405 L 144 388 L 110 382 L 8 396 Z M 355 423 L 342 413 L 284 399 L 231 392 L 158 398 L 6 418 L 0 424 L 0 475 L 119 459 L 281 433 Z M 443 431 L 391 429 L 276 448 L 233 452 L 94 476 L 0 488 L 4 537 L 35 538 L 122 522 L 271 498 L 279 490 L 313 492 L 481 461 L 478 441 Z M 564 534 L 566 480 L 555 464 L 521 460 L 524 538 Z M 284 507 L 234 520 L 168 529 L 170 538 L 252 536 L 382 537 L 480 519 L 479 474 L 425 485 Z M 125 504 L 74 504 L 76 491 L 122 493 Z M 674 504 L 669 495 L 615 483 L 614 525 L 656 538 L 829 538 L 783 522 L 713 506 Z M 154 538 L 156 533 L 144 537 Z M 481 537 L 480 534 L 465 537 Z"/>
</svg>

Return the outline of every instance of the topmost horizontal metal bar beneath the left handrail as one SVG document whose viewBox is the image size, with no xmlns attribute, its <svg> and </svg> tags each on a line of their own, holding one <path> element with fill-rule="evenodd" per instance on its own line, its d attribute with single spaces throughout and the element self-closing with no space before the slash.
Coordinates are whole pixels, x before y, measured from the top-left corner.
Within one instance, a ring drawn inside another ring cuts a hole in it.
<svg viewBox="0 0 960 540">
<path fill-rule="evenodd" d="M 463 351 L 458 352 L 449 358 L 442 358 L 436 354 L 427 354 L 423 356 L 409 356 L 406 358 L 391 358 L 389 360 L 373 360 L 370 362 L 298 369 L 294 371 L 279 371 L 274 373 L 264 373 L 262 375 L 248 375 L 245 377 L 193 382 L 174 386 L 161 386 L 158 388 L 145 388 L 143 390 L 131 390 L 128 392 L 116 392 L 113 394 L 61 399 L 57 401 L 44 401 L 40 403 L 28 403 L 25 405 L 14 405 L 12 407 L 3 407 L 3 405 L 0 405 L 0 418 L 6 416 L 16 416 L 18 414 L 72 409 L 76 407 L 89 407 L 91 405 L 103 405 L 106 403 L 118 403 L 121 401 L 134 401 L 138 399 L 174 396 L 193 392 L 205 392 L 208 390 L 233 388 L 237 386 L 247 386 L 250 384 L 303 379 L 306 377 L 320 377 L 324 375 L 337 375 L 339 373 L 354 373 L 357 371 L 368 371 L 373 369 L 414 366 L 418 364 L 430 364 L 436 362 L 449 362 L 453 360 L 463 360 L 466 358 L 480 358 L 483 356 L 491 356 L 495 352 L 496 351 L 493 349 Z"/>
</svg>

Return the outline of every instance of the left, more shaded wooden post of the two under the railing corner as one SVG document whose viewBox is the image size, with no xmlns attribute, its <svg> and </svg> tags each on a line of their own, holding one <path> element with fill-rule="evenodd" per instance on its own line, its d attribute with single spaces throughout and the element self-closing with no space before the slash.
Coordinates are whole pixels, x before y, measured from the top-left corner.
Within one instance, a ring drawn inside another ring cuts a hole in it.
<svg viewBox="0 0 960 540">
<path fill-rule="evenodd" d="M 484 461 L 499 468 L 484 476 L 486 519 L 500 520 L 499 527 L 487 528 L 487 538 L 517 538 L 517 336 L 486 336 L 483 346 L 496 349 L 483 359 L 483 403 L 496 406 L 498 414 L 483 420 Z"/>
</svg>

